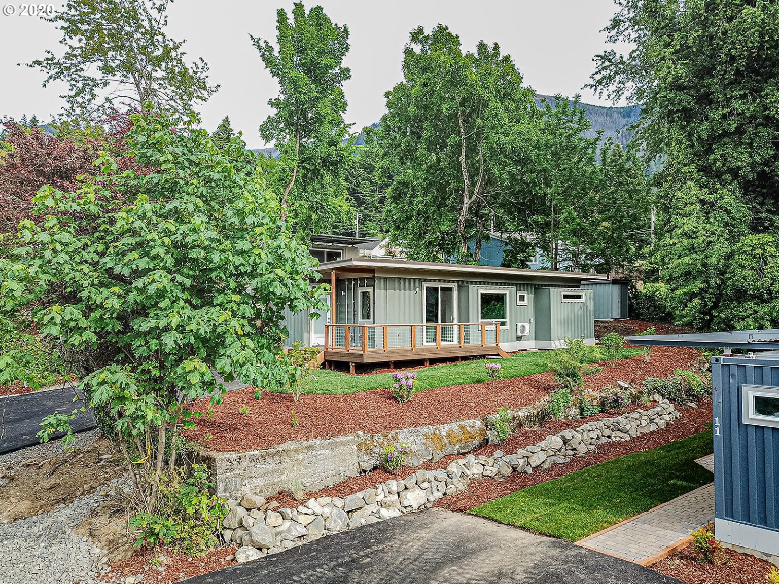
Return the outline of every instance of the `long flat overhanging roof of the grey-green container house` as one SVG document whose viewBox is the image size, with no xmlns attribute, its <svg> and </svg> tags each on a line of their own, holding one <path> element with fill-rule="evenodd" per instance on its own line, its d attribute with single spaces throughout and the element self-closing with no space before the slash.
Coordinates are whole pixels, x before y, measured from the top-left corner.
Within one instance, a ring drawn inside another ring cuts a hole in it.
<svg viewBox="0 0 779 584">
<path fill-rule="evenodd" d="M 348 272 L 350 269 L 412 270 L 427 273 L 450 273 L 471 276 L 505 276 L 527 279 L 559 278 L 563 280 L 605 280 L 605 274 L 581 272 L 559 272 L 551 269 L 503 268 L 499 266 L 474 266 L 473 264 L 452 264 L 444 262 L 413 262 L 407 259 L 351 258 L 319 265 L 319 273 L 329 274 L 333 269 Z"/>
</svg>

